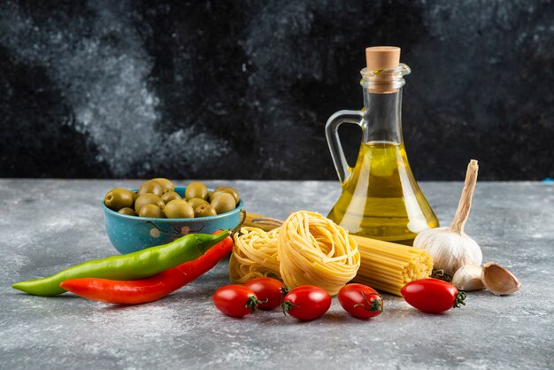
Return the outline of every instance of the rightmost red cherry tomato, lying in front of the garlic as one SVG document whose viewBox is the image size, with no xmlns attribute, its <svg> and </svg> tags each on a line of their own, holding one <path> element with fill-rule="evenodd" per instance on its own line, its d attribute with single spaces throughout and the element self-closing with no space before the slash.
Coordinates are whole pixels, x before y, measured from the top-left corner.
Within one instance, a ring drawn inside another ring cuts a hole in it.
<svg viewBox="0 0 554 370">
<path fill-rule="evenodd" d="M 420 279 L 408 282 L 400 290 L 402 297 L 418 310 L 423 312 L 444 312 L 460 304 L 466 305 L 466 293 L 438 279 Z"/>
</svg>

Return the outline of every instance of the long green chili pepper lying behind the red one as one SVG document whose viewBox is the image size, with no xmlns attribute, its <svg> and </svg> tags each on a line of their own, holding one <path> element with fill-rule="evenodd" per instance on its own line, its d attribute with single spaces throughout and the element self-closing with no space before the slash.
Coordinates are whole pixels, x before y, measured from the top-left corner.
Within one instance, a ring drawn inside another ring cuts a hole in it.
<svg viewBox="0 0 554 370">
<path fill-rule="evenodd" d="M 199 258 L 212 245 L 221 242 L 228 235 L 228 231 L 218 235 L 184 235 L 172 243 L 85 262 L 43 279 L 19 281 L 13 284 L 12 288 L 35 296 L 56 296 L 66 291 L 60 288 L 59 284 L 70 279 L 92 277 L 112 280 L 142 279 Z"/>
</svg>

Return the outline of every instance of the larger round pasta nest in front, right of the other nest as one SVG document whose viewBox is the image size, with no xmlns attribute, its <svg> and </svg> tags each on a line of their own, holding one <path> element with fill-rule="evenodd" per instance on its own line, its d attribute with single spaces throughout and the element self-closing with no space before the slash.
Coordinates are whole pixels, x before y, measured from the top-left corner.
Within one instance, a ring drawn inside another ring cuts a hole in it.
<svg viewBox="0 0 554 370">
<path fill-rule="evenodd" d="M 289 287 L 317 285 L 335 295 L 356 276 L 358 244 L 348 231 L 318 213 L 292 213 L 278 229 L 282 280 Z"/>
</svg>

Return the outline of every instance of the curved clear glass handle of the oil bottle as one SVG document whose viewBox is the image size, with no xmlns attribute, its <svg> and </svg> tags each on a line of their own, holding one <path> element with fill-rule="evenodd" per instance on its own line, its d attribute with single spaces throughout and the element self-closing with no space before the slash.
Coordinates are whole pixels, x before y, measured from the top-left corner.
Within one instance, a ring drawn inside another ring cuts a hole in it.
<svg viewBox="0 0 554 370">
<path fill-rule="evenodd" d="M 361 111 L 339 111 L 335 112 L 325 124 L 325 135 L 327 136 L 327 144 L 331 151 L 331 157 L 333 163 L 335 163 L 336 173 L 339 176 L 339 181 L 343 183 L 350 176 L 350 166 L 344 157 L 344 151 L 342 150 L 341 139 L 339 137 L 339 126 L 343 122 L 355 123 L 358 126 L 362 126 L 363 115 Z"/>
</svg>

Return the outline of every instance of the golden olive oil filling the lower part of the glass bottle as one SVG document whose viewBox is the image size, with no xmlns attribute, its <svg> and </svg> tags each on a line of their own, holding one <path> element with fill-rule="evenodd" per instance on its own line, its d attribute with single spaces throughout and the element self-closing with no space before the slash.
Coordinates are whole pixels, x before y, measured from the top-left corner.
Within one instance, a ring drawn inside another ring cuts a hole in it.
<svg viewBox="0 0 554 370">
<path fill-rule="evenodd" d="M 328 217 L 353 234 L 395 243 L 412 244 L 417 232 L 438 227 L 412 176 L 404 143 L 362 143 Z"/>
</svg>

